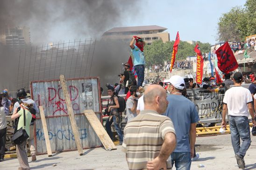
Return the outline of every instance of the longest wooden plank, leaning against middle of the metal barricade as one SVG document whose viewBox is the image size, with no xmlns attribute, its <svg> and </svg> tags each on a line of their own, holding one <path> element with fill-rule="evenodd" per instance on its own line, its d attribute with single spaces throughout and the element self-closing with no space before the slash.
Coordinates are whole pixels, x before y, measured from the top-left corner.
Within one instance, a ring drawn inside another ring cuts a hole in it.
<svg viewBox="0 0 256 170">
<path fill-rule="evenodd" d="M 66 105 L 67 105 L 67 109 L 68 109 L 68 114 L 69 114 L 69 118 L 70 118 L 70 122 L 71 122 L 72 131 L 74 133 L 75 141 L 76 141 L 76 144 L 77 144 L 78 153 L 81 156 L 81 155 L 84 154 L 84 151 L 83 151 L 80 136 L 79 136 L 79 133 L 78 133 L 78 127 L 77 127 L 77 123 L 76 123 L 76 120 L 75 120 L 73 108 L 72 108 L 72 105 L 71 105 L 71 100 L 70 100 L 70 96 L 69 96 L 69 93 L 68 93 L 68 88 L 67 88 L 67 85 L 66 85 L 66 82 L 65 82 L 64 75 L 60 75 L 59 78 L 60 78 L 60 83 L 61 83 L 62 90 L 64 92 L 64 96 L 65 96 L 65 99 L 66 99 L 65 101 L 66 101 Z"/>
</svg>

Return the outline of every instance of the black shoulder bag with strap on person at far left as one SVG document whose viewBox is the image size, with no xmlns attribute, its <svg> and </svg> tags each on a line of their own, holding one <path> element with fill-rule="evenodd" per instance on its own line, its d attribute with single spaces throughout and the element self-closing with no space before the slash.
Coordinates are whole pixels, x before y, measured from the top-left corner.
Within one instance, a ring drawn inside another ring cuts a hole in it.
<svg viewBox="0 0 256 170">
<path fill-rule="evenodd" d="M 26 132 L 26 129 L 25 129 L 26 128 L 26 113 L 25 113 L 25 109 L 23 109 L 23 115 L 24 115 L 23 116 L 23 119 L 24 119 L 24 129 L 23 129 L 23 127 L 21 127 L 19 130 L 17 130 L 14 133 L 14 136 L 12 137 L 12 141 L 15 144 L 17 144 L 17 145 L 23 143 L 29 137 L 27 132 Z"/>
</svg>

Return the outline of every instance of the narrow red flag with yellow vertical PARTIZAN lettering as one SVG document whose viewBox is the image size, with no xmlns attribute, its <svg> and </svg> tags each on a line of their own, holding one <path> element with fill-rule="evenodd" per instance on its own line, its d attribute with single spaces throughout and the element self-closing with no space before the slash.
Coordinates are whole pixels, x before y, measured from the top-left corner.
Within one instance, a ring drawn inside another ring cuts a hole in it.
<svg viewBox="0 0 256 170">
<path fill-rule="evenodd" d="M 201 51 L 199 50 L 198 44 L 194 48 L 194 51 L 197 53 L 197 75 L 196 75 L 196 82 L 198 84 L 202 84 L 204 59 L 202 57 Z"/>
</svg>

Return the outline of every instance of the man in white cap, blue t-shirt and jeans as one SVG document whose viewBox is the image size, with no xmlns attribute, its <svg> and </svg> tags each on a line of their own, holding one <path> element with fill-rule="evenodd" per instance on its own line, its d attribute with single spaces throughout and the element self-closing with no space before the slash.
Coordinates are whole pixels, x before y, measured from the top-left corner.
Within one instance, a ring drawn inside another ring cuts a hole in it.
<svg viewBox="0 0 256 170">
<path fill-rule="evenodd" d="M 165 115 L 171 118 L 177 137 L 171 163 L 175 163 L 176 170 L 190 170 L 196 142 L 196 122 L 199 121 L 198 111 L 195 104 L 182 95 L 185 82 L 181 76 L 173 75 L 164 82 L 171 83 L 167 88 L 171 95 L 167 96 L 169 104 Z"/>
</svg>

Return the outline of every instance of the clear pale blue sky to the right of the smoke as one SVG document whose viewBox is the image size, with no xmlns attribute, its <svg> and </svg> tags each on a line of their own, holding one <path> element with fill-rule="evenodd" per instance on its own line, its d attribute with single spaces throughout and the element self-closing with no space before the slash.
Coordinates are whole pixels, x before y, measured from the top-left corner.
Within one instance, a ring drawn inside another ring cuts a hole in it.
<svg viewBox="0 0 256 170">
<path fill-rule="evenodd" d="M 170 39 L 179 31 L 182 41 L 215 44 L 217 23 L 223 13 L 246 0 L 147 0 L 141 5 L 142 19 L 127 26 L 158 25 L 168 28 Z"/>
</svg>

